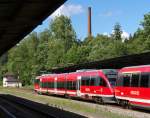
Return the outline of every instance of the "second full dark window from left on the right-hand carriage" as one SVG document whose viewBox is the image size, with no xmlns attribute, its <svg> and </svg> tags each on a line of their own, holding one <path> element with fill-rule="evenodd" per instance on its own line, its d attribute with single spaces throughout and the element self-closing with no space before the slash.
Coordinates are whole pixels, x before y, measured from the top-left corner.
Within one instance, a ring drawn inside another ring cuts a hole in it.
<svg viewBox="0 0 150 118">
<path fill-rule="evenodd" d="M 132 79 L 131 79 L 131 86 L 132 87 L 138 87 L 139 86 L 139 79 L 140 79 L 140 74 L 139 73 L 133 73 Z"/>
</svg>

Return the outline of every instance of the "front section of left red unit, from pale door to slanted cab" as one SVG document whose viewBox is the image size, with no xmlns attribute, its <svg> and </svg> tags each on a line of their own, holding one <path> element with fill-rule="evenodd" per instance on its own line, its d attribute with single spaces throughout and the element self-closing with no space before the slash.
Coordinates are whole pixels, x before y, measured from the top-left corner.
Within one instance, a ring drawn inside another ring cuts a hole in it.
<svg viewBox="0 0 150 118">
<path fill-rule="evenodd" d="M 114 101 L 113 86 L 117 77 L 116 70 L 93 70 L 81 72 L 78 75 L 81 78 L 80 95 L 82 98 L 96 102 Z"/>
</svg>

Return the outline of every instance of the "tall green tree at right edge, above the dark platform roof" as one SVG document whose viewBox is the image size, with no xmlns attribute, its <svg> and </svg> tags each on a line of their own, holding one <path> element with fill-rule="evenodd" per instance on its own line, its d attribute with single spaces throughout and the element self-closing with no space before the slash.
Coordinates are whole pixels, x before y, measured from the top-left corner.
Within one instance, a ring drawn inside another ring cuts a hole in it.
<svg viewBox="0 0 150 118">
<path fill-rule="evenodd" d="M 150 12 L 144 15 L 141 24 L 128 43 L 130 54 L 142 53 L 150 50 Z"/>
</svg>

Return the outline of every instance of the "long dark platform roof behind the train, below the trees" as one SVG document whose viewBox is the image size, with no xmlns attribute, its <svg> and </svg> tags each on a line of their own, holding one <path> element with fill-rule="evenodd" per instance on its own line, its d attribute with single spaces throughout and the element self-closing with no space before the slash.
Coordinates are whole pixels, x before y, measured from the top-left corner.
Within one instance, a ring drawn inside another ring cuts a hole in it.
<svg viewBox="0 0 150 118">
<path fill-rule="evenodd" d="M 72 65 L 63 68 L 56 68 L 50 71 L 53 73 L 62 73 L 62 72 L 74 72 L 80 69 L 108 69 L 108 68 L 120 69 L 122 67 L 147 65 L 147 64 L 150 64 L 150 52 L 88 63 L 83 62 L 82 64 Z"/>
</svg>

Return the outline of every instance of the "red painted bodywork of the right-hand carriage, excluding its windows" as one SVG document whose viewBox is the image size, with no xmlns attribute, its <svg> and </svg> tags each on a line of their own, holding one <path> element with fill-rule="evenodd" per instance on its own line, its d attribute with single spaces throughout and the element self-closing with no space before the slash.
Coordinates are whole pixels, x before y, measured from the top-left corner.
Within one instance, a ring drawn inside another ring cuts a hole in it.
<svg viewBox="0 0 150 118">
<path fill-rule="evenodd" d="M 119 75 L 123 73 L 150 73 L 150 66 L 125 67 L 120 69 Z M 116 86 L 115 96 L 118 100 L 127 100 L 131 104 L 150 108 L 150 86 L 140 87 L 140 82 L 137 87 Z"/>
</svg>

